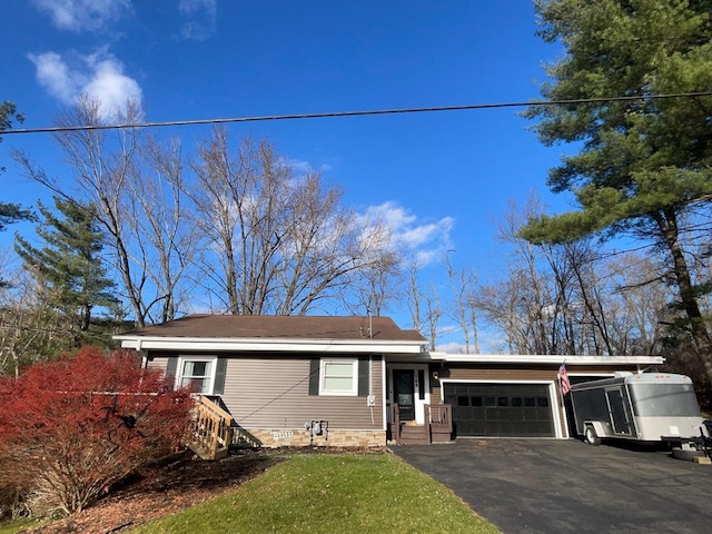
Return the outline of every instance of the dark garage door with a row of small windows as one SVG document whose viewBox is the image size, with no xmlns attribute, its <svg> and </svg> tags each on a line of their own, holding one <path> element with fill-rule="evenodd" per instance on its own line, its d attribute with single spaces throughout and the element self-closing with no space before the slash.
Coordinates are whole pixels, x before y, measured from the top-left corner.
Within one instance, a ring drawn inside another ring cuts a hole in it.
<svg viewBox="0 0 712 534">
<path fill-rule="evenodd" d="M 554 437 L 551 386 L 521 383 L 444 383 L 457 436 Z"/>
</svg>

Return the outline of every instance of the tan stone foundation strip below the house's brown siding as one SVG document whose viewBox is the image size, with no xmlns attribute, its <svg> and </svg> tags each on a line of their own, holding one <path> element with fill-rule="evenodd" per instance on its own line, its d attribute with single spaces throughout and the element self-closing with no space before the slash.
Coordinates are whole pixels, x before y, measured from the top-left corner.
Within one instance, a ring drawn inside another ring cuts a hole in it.
<svg viewBox="0 0 712 534">
<path fill-rule="evenodd" d="M 263 447 L 382 447 L 386 431 L 324 429 L 316 435 L 304 428 L 247 429 L 250 442 Z"/>
</svg>

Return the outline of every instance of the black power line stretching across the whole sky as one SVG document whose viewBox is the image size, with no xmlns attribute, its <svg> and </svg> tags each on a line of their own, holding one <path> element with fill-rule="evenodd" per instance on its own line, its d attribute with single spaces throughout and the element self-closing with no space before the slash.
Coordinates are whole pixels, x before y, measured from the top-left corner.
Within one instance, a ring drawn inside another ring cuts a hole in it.
<svg viewBox="0 0 712 534">
<path fill-rule="evenodd" d="M 360 111 L 328 111 L 322 113 L 291 113 L 291 115 L 263 115 L 255 117 L 231 117 L 217 119 L 195 119 L 195 120 L 167 120 L 161 122 L 131 122 L 123 125 L 85 125 L 85 126 L 57 126 L 44 128 L 20 128 L 0 131 L 0 135 L 12 134 L 53 134 L 62 131 L 87 131 L 87 130 L 119 130 L 130 128 L 158 128 L 165 126 L 197 126 L 197 125 L 224 125 L 231 122 L 260 122 L 268 120 L 300 120 L 300 119 L 326 119 L 334 117 L 363 117 L 376 115 L 405 115 L 442 111 L 466 111 L 479 109 L 497 108 L 528 108 L 548 106 L 575 106 L 584 103 L 625 102 L 640 100 L 661 100 L 670 98 L 695 98 L 710 97 L 712 91 L 701 92 L 673 92 L 665 95 L 649 96 L 626 96 L 626 97 L 603 97 L 603 98 L 577 98 L 573 100 L 533 100 L 528 102 L 498 102 L 498 103 L 472 103 L 461 106 L 433 106 L 427 108 L 395 108 L 395 109 L 370 109 Z"/>
</svg>

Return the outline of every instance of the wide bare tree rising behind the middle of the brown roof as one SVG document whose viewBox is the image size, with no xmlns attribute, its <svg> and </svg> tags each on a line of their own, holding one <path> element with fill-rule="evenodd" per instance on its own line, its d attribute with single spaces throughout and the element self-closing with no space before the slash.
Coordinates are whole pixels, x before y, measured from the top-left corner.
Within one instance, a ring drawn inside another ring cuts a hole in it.
<svg viewBox="0 0 712 534">
<path fill-rule="evenodd" d="M 245 139 L 233 156 L 227 130 L 217 128 L 194 170 L 185 192 L 209 243 L 205 287 L 228 313 L 303 315 L 397 263 L 385 227 L 360 225 L 339 189 L 318 172 L 297 175 L 265 141 Z"/>
</svg>

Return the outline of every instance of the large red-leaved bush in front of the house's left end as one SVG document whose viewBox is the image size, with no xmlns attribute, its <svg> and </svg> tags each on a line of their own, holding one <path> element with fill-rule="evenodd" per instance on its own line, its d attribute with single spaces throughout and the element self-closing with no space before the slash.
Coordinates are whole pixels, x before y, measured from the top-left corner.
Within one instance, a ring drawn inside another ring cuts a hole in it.
<svg viewBox="0 0 712 534">
<path fill-rule="evenodd" d="M 21 494 L 36 516 L 80 512 L 176 451 L 192 399 L 171 386 L 136 353 L 93 348 L 0 378 L 0 496 L 16 500 L 4 507 Z"/>
</svg>

